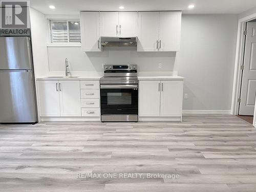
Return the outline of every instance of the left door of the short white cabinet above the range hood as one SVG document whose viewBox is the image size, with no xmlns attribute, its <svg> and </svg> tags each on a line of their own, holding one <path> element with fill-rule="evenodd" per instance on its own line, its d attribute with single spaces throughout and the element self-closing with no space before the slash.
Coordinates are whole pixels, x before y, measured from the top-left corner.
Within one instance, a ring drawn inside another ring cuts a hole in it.
<svg viewBox="0 0 256 192">
<path fill-rule="evenodd" d="M 118 12 L 100 12 L 100 35 L 119 35 Z"/>
</svg>

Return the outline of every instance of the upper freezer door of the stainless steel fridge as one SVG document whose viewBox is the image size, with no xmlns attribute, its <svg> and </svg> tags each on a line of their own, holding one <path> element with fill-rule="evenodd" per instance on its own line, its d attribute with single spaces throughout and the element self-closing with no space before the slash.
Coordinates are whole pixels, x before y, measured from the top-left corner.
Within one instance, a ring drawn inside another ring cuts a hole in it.
<svg viewBox="0 0 256 192">
<path fill-rule="evenodd" d="M 32 69 L 29 37 L 0 37 L 0 70 Z"/>
</svg>

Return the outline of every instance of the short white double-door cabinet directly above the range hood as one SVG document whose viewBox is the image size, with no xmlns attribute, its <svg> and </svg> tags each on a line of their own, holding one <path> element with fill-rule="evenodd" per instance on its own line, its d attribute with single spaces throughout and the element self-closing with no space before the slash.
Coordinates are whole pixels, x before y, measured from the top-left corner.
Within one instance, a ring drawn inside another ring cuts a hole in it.
<svg viewBox="0 0 256 192">
<path fill-rule="evenodd" d="M 100 12 L 101 36 L 137 36 L 137 12 Z"/>
</svg>

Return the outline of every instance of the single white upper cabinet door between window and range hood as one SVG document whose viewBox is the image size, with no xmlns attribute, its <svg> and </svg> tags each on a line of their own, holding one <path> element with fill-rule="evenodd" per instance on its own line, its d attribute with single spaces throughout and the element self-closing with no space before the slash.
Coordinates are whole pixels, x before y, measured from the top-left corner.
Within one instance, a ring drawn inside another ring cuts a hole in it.
<svg viewBox="0 0 256 192">
<path fill-rule="evenodd" d="M 99 34 L 99 12 L 81 12 L 82 51 L 101 51 Z"/>
</svg>

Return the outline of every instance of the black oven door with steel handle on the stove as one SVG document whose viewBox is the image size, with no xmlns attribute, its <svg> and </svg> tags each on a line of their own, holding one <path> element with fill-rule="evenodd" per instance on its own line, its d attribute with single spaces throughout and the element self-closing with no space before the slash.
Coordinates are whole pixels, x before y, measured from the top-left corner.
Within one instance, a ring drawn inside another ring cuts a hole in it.
<svg viewBox="0 0 256 192">
<path fill-rule="evenodd" d="M 138 115 L 138 84 L 101 84 L 101 115 Z"/>
</svg>

